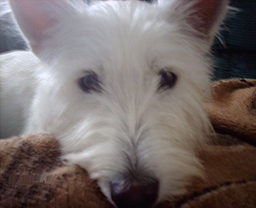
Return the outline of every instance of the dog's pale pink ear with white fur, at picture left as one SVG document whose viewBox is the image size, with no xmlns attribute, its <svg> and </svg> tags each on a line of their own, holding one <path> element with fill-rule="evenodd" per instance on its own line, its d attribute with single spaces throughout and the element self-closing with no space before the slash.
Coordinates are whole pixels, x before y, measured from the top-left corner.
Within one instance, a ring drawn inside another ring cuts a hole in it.
<svg viewBox="0 0 256 208">
<path fill-rule="evenodd" d="M 76 10 L 67 0 L 9 0 L 19 28 L 28 40 L 35 55 L 51 38 L 51 29 L 65 15 Z"/>
</svg>

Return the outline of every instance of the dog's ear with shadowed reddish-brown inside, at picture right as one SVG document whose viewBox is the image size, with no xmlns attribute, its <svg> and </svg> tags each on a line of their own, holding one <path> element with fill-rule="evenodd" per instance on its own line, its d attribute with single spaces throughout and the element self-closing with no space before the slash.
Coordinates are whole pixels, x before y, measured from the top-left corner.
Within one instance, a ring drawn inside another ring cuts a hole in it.
<svg viewBox="0 0 256 208">
<path fill-rule="evenodd" d="M 157 4 L 172 10 L 169 20 L 179 18 L 197 31 L 197 35 L 212 44 L 227 12 L 228 0 L 158 0 Z M 168 16 L 168 11 L 166 11 Z M 175 16 L 172 16 L 174 14 Z"/>
</svg>

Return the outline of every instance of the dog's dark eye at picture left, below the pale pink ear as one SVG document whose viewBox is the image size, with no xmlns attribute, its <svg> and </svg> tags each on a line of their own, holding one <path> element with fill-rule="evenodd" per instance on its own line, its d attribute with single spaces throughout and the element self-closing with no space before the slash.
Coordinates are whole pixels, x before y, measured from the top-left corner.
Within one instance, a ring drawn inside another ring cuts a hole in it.
<svg viewBox="0 0 256 208">
<path fill-rule="evenodd" d="M 80 88 L 85 92 L 100 91 L 100 82 L 95 72 L 89 72 L 78 81 Z"/>
</svg>

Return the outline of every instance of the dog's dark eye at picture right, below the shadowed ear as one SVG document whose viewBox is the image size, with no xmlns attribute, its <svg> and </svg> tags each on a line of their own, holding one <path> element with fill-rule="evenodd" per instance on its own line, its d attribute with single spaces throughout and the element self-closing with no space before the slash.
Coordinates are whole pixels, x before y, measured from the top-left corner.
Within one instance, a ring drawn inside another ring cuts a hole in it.
<svg viewBox="0 0 256 208">
<path fill-rule="evenodd" d="M 168 89 L 173 87 L 177 81 L 177 75 L 173 72 L 161 70 L 160 73 L 160 85 L 161 89 Z"/>
</svg>

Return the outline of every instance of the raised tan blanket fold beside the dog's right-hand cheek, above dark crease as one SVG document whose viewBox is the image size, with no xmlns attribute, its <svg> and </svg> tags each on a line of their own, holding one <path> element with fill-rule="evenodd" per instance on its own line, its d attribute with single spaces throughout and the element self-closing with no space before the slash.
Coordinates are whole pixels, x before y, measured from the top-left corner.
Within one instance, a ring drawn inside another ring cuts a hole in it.
<svg viewBox="0 0 256 208">
<path fill-rule="evenodd" d="M 219 133 L 256 144 L 256 80 L 222 80 L 214 83 L 206 110 Z"/>
</svg>

